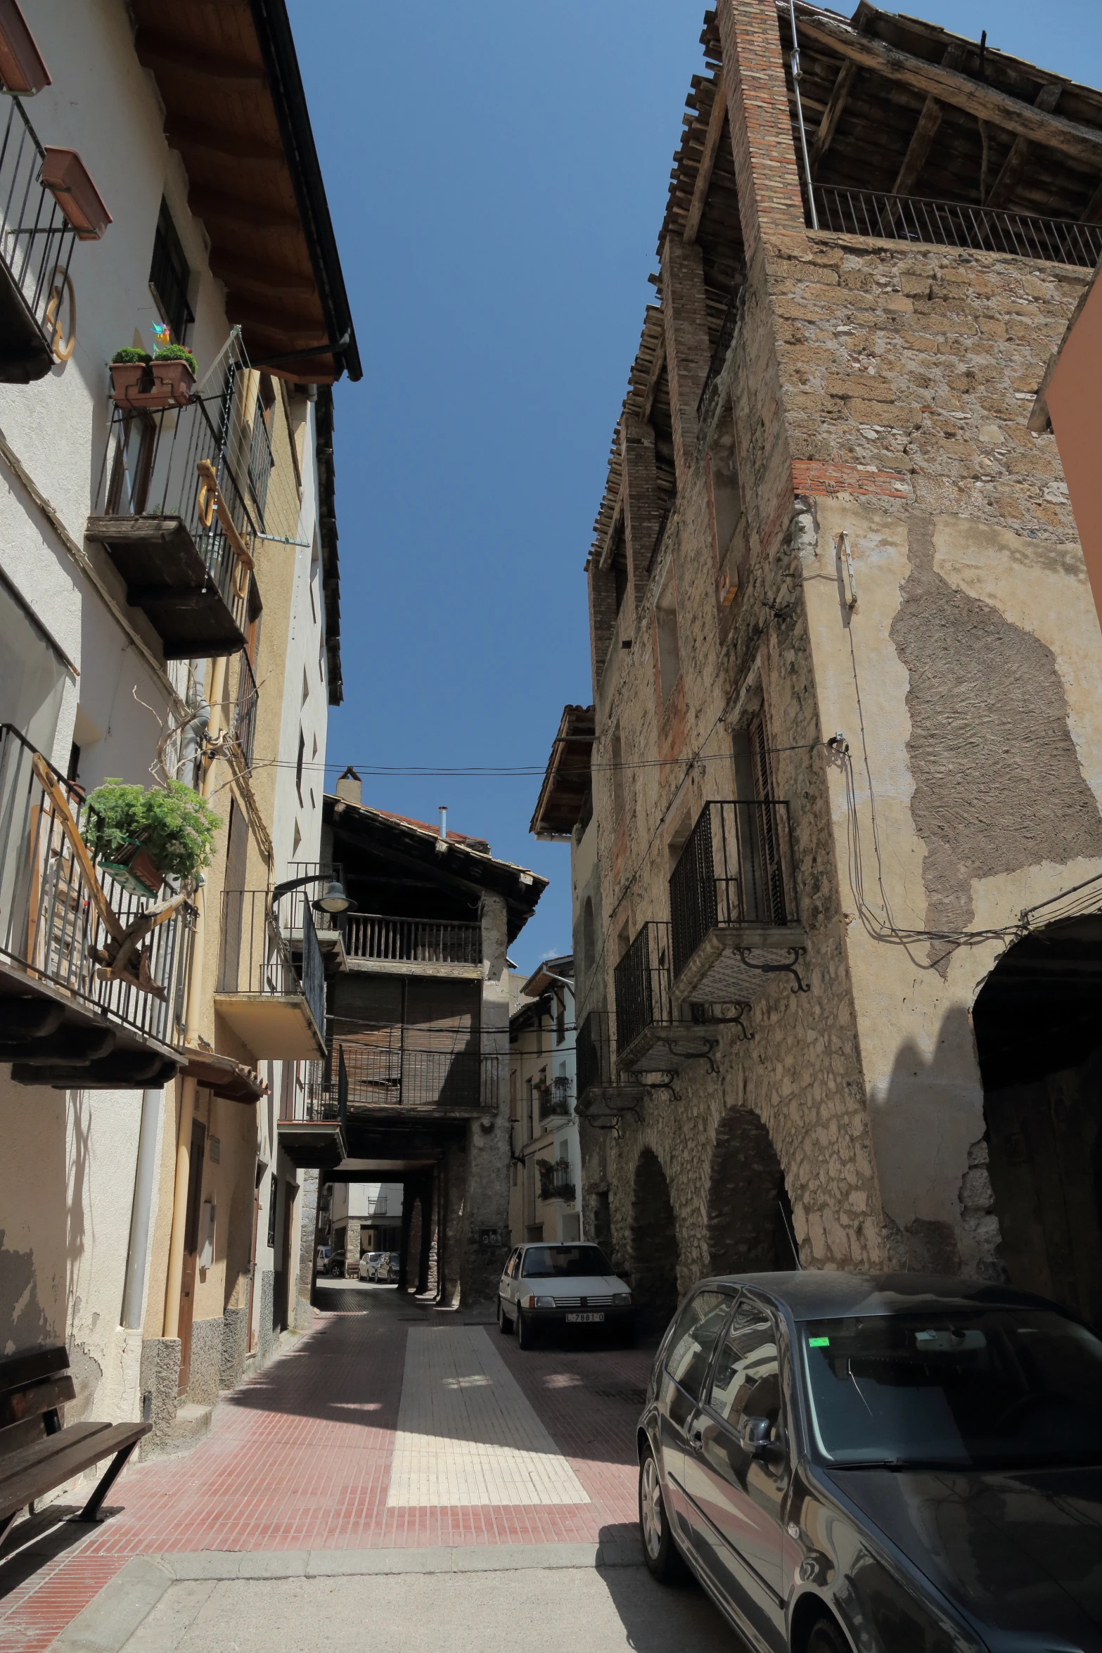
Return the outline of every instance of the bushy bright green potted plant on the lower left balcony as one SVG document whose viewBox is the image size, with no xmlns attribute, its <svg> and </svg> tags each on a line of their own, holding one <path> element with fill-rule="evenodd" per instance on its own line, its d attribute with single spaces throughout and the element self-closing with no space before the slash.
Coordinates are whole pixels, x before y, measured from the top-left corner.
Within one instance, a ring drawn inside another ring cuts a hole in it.
<svg viewBox="0 0 1102 1653">
<path fill-rule="evenodd" d="M 220 825 L 182 780 L 149 788 L 104 780 L 88 798 L 84 841 L 117 884 L 155 896 L 169 874 L 195 883 L 210 866 Z"/>
</svg>

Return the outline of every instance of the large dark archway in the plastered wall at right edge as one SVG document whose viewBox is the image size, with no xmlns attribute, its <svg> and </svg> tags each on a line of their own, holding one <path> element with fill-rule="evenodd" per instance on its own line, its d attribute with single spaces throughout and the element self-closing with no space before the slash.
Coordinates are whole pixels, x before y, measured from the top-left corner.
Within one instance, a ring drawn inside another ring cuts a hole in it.
<svg viewBox="0 0 1102 1653">
<path fill-rule="evenodd" d="M 1102 1326 L 1102 916 L 1016 942 L 973 1028 L 1006 1274 Z"/>
</svg>

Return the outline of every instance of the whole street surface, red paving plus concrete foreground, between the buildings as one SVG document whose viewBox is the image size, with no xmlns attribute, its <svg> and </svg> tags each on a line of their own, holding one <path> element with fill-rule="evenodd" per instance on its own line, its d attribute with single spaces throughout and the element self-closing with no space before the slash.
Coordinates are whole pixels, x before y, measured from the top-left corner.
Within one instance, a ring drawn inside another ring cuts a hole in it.
<svg viewBox="0 0 1102 1653">
<path fill-rule="evenodd" d="M 641 1565 L 649 1349 L 522 1354 L 387 1286 L 319 1301 L 205 1441 L 119 1483 L 102 1526 L 55 1504 L 10 1536 L 0 1653 L 730 1645 L 694 1585 Z"/>
</svg>

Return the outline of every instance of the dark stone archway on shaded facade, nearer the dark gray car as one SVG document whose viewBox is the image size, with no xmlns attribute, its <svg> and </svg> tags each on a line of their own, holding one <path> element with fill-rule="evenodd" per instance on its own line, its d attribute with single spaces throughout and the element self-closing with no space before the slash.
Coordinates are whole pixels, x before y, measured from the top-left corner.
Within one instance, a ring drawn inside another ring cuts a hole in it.
<svg viewBox="0 0 1102 1653">
<path fill-rule="evenodd" d="M 707 1250 L 712 1274 L 798 1268 L 791 1205 L 770 1134 L 748 1108 L 725 1112 L 712 1149 Z"/>
</svg>

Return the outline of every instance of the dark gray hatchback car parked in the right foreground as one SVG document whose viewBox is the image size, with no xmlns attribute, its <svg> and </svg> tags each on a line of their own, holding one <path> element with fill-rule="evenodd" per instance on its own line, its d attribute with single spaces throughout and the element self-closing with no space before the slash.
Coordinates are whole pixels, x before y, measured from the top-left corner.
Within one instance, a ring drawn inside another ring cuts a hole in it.
<svg viewBox="0 0 1102 1653">
<path fill-rule="evenodd" d="M 762 1653 L 1102 1653 L 1102 1342 L 1044 1298 L 702 1281 L 638 1443 L 649 1570 Z"/>
</svg>

